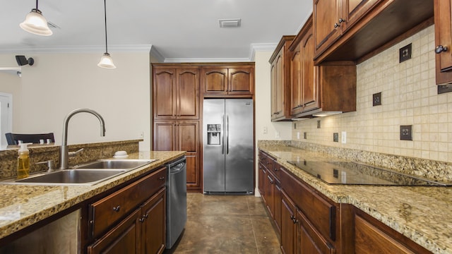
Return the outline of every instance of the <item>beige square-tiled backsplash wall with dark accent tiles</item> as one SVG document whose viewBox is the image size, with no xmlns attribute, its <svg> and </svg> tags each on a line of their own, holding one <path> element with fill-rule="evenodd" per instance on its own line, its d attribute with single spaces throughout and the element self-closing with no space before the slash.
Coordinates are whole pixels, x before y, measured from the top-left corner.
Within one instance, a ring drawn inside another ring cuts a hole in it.
<svg viewBox="0 0 452 254">
<path fill-rule="evenodd" d="M 412 59 L 399 63 L 400 47 L 410 43 Z M 434 47 L 432 25 L 360 63 L 357 111 L 294 122 L 292 140 L 452 162 L 452 93 L 437 94 Z M 381 92 L 382 102 L 373 107 L 376 92 Z M 412 125 L 412 141 L 400 140 L 401 125 Z M 333 142 L 333 133 L 341 140 L 342 131 L 347 132 L 347 143 Z"/>
</svg>

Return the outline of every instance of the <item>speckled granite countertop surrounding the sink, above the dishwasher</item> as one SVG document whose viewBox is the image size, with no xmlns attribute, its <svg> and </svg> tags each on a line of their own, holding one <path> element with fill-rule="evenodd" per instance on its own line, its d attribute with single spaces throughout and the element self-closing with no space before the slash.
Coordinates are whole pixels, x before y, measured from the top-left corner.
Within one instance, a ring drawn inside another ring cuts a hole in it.
<svg viewBox="0 0 452 254">
<path fill-rule="evenodd" d="M 94 186 L 33 186 L 0 183 L 0 238 L 78 205 L 136 176 L 166 164 L 185 152 L 136 152 L 128 159 L 157 159 Z"/>
</svg>

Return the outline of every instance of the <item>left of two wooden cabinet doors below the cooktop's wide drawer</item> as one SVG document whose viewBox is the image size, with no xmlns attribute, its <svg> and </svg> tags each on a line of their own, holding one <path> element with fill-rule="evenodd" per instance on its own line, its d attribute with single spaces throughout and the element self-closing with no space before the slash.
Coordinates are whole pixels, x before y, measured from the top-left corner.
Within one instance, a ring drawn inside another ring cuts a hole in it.
<svg viewBox="0 0 452 254">
<path fill-rule="evenodd" d="M 295 204 L 283 191 L 281 198 L 281 250 L 295 253 Z"/>
</svg>

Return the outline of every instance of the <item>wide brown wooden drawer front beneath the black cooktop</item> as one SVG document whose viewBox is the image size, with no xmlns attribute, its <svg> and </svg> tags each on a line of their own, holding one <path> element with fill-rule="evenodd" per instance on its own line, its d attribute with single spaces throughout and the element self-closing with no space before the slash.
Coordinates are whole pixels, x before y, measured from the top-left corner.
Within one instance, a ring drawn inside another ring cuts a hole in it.
<svg viewBox="0 0 452 254">
<path fill-rule="evenodd" d="M 308 188 L 306 183 L 295 179 L 287 171 L 281 170 L 280 174 L 281 186 L 294 200 L 299 210 L 324 237 L 335 241 L 335 205 Z"/>
</svg>

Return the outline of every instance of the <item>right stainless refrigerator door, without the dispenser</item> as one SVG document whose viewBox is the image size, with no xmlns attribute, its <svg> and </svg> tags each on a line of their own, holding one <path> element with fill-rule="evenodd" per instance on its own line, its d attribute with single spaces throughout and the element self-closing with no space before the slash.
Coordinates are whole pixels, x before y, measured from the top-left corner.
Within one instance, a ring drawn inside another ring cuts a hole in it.
<svg viewBox="0 0 452 254">
<path fill-rule="evenodd" d="M 253 193 L 253 101 L 225 100 L 225 191 Z"/>
</svg>

